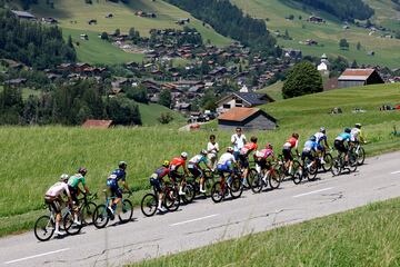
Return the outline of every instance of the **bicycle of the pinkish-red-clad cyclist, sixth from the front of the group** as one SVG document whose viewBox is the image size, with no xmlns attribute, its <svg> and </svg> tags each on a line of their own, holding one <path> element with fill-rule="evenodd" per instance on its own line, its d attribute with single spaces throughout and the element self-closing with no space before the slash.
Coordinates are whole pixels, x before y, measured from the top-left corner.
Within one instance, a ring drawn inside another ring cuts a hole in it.
<svg viewBox="0 0 400 267">
<path fill-rule="evenodd" d="M 269 169 L 261 169 L 258 172 L 256 168 L 251 168 L 249 174 L 253 178 L 251 179 L 251 190 L 257 194 L 262 190 L 263 187 L 271 187 L 271 189 L 278 189 L 281 182 L 281 174 L 278 170 L 279 165 L 273 165 Z"/>
</svg>

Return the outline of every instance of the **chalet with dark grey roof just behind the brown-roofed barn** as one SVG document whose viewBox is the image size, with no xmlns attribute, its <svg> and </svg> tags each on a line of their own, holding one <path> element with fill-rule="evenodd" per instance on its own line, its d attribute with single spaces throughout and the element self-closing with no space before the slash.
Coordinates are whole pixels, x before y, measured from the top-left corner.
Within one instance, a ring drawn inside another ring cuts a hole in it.
<svg viewBox="0 0 400 267">
<path fill-rule="evenodd" d="M 217 112 L 223 113 L 234 107 L 252 108 L 256 106 L 273 102 L 267 93 L 233 92 L 217 102 Z"/>
</svg>

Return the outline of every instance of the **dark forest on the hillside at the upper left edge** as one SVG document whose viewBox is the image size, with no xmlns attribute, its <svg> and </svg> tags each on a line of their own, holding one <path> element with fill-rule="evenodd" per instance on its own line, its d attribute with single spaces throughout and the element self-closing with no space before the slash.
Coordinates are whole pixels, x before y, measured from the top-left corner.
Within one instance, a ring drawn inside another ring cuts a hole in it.
<svg viewBox="0 0 400 267">
<path fill-rule="evenodd" d="M 46 69 L 73 62 L 77 53 L 59 28 L 19 20 L 10 10 L 0 10 L 0 58 Z"/>
</svg>

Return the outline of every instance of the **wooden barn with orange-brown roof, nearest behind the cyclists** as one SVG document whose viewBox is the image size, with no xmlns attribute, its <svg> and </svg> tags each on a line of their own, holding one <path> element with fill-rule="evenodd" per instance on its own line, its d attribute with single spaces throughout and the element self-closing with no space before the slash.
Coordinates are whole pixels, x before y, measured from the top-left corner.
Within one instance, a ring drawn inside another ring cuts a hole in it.
<svg viewBox="0 0 400 267">
<path fill-rule="evenodd" d="M 277 119 L 259 108 L 232 108 L 218 117 L 220 129 L 241 127 L 248 130 L 272 130 Z"/>
</svg>

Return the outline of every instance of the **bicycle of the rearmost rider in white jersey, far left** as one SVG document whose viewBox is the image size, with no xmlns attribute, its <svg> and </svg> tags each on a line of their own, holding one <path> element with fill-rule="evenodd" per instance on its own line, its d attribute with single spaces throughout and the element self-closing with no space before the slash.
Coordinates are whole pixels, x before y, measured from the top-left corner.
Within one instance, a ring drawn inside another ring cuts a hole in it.
<svg viewBox="0 0 400 267">
<path fill-rule="evenodd" d="M 33 233 L 40 241 L 49 240 L 56 230 L 56 212 L 50 206 L 48 208 L 49 215 L 40 216 L 34 222 Z M 69 206 L 61 210 L 61 221 L 60 227 L 62 226 L 63 230 L 71 236 L 79 234 L 82 228 L 81 225 L 73 222 L 73 212 Z"/>
</svg>

